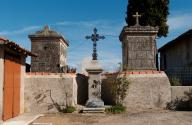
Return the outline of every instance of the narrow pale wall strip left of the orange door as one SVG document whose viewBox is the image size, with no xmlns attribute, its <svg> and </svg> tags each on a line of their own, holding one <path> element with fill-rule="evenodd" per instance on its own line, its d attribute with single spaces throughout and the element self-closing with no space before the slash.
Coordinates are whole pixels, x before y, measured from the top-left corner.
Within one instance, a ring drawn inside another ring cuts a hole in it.
<svg viewBox="0 0 192 125">
<path fill-rule="evenodd" d="M 4 51 L 0 47 L 0 121 L 3 114 Z"/>
</svg>

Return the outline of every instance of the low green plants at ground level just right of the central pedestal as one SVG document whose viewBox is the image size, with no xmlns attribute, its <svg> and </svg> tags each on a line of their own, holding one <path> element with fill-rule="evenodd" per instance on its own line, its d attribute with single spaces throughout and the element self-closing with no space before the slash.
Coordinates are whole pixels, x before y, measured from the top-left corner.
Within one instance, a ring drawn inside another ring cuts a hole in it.
<svg viewBox="0 0 192 125">
<path fill-rule="evenodd" d="M 105 109 L 107 113 L 113 113 L 113 114 L 122 113 L 125 112 L 125 110 L 126 108 L 122 104 L 116 104 L 110 108 Z"/>
</svg>

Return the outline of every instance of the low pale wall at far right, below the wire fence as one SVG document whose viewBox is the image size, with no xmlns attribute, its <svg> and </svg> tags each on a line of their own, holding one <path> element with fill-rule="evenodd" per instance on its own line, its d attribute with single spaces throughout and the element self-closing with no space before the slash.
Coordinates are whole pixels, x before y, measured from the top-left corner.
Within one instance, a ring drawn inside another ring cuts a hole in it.
<svg viewBox="0 0 192 125">
<path fill-rule="evenodd" d="M 171 100 L 185 97 L 185 92 L 192 91 L 192 86 L 171 86 Z"/>
</svg>

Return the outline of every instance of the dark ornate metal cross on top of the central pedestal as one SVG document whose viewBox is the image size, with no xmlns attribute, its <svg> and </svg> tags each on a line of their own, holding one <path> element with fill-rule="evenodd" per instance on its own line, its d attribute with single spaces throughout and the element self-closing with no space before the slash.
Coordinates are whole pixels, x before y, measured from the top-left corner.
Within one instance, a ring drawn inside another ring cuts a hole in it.
<svg viewBox="0 0 192 125">
<path fill-rule="evenodd" d="M 93 54 L 92 54 L 93 59 L 92 60 L 97 60 L 97 48 L 96 48 L 97 47 L 97 41 L 99 41 L 100 39 L 105 39 L 105 37 L 97 34 L 97 29 L 94 28 L 93 34 L 91 36 L 86 36 L 85 38 L 91 39 L 93 41 Z"/>
</svg>

